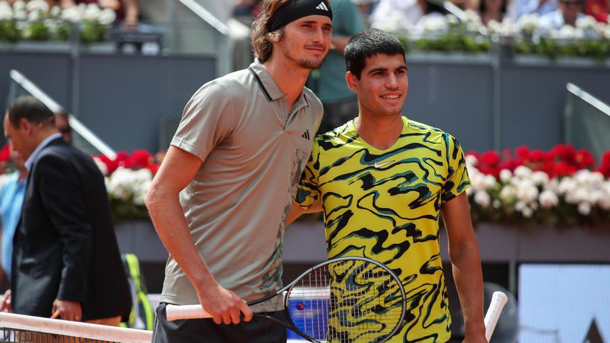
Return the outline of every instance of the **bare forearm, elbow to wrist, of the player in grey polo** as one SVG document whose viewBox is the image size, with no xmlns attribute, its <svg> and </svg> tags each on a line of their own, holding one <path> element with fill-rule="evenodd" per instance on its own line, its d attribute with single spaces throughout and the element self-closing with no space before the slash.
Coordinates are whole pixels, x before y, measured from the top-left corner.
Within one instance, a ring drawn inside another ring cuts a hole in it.
<svg viewBox="0 0 610 343">
<path fill-rule="evenodd" d="M 191 283 L 193 285 L 216 283 L 214 276 L 195 248 L 177 195 L 164 195 L 160 191 L 155 192 L 151 189 L 146 197 L 146 206 L 157 234 Z"/>
</svg>

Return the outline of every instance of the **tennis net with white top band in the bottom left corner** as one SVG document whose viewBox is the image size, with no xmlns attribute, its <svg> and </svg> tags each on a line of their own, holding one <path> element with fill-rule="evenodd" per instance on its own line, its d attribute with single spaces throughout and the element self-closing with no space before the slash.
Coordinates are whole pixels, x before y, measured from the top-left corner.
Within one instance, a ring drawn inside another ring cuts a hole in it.
<svg viewBox="0 0 610 343">
<path fill-rule="evenodd" d="M 0 313 L 0 342 L 150 343 L 151 339 L 151 331 Z"/>
</svg>

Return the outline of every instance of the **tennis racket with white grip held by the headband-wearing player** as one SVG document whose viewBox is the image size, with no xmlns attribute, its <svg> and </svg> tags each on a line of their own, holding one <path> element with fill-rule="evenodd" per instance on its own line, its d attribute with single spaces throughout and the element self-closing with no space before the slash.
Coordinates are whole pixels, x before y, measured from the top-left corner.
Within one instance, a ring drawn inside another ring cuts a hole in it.
<svg viewBox="0 0 610 343">
<path fill-rule="evenodd" d="M 406 313 L 403 285 L 394 272 L 369 258 L 333 258 L 310 268 L 281 290 L 250 301 L 284 297 L 283 322 L 309 342 L 381 343 L 396 334 Z M 168 320 L 211 317 L 201 305 L 168 305 Z"/>
</svg>

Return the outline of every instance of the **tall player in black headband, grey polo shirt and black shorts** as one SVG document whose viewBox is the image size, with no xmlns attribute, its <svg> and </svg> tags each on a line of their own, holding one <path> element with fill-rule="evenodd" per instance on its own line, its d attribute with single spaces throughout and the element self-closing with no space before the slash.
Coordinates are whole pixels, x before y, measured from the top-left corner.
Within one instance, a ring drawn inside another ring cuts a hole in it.
<svg viewBox="0 0 610 343">
<path fill-rule="evenodd" d="M 264 0 L 252 24 L 256 60 L 212 80 L 186 104 L 146 195 L 170 253 L 153 342 L 285 342 L 282 238 L 322 119 L 304 87 L 329 51 L 327 0 Z M 168 322 L 166 304 L 202 304 L 211 319 Z"/>
</svg>

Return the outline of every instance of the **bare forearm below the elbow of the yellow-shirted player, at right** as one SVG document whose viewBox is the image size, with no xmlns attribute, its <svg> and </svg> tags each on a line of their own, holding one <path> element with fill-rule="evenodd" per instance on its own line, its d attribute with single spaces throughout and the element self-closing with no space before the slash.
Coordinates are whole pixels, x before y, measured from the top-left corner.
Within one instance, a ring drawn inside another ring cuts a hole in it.
<svg viewBox="0 0 610 343">
<path fill-rule="evenodd" d="M 466 335 L 485 333 L 483 323 L 483 278 L 481 261 L 476 240 L 464 244 L 450 253 L 453 265 L 453 279 L 458 290 Z"/>
</svg>

